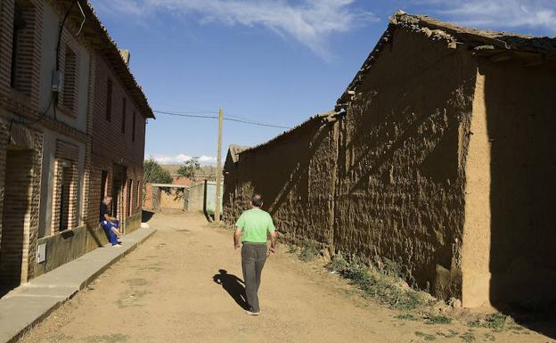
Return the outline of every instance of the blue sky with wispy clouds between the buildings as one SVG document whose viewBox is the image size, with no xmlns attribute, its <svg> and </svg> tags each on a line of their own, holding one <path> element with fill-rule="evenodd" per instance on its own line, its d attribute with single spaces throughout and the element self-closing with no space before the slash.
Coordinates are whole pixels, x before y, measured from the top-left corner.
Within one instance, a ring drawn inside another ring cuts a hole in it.
<svg viewBox="0 0 556 343">
<path fill-rule="evenodd" d="M 397 9 L 479 29 L 556 35 L 556 0 L 92 0 L 154 110 L 292 127 L 333 109 Z M 230 143 L 283 129 L 225 121 Z M 157 114 L 145 156 L 214 163 L 217 120 Z"/>
</svg>

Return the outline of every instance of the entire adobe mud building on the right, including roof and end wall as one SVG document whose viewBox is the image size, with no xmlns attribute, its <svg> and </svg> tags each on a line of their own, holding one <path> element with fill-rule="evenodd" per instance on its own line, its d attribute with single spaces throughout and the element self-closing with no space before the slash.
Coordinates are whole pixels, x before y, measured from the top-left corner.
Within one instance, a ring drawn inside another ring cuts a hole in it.
<svg viewBox="0 0 556 343">
<path fill-rule="evenodd" d="M 400 265 L 463 306 L 550 303 L 556 39 L 398 12 L 331 113 L 225 167 L 290 240 Z"/>
</svg>

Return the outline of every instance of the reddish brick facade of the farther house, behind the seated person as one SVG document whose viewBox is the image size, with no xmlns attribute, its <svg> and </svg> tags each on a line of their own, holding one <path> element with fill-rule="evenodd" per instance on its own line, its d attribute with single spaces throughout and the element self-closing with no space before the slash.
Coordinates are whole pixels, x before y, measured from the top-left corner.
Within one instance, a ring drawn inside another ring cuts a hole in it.
<svg viewBox="0 0 556 343">
<path fill-rule="evenodd" d="M 137 192 L 141 191 L 141 181 L 143 179 L 143 157 L 144 157 L 144 133 L 145 118 L 136 106 L 129 91 L 122 85 L 115 73 L 110 69 L 110 64 L 102 57 L 95 53 L 94 55 L 94 119 L 92 123 L 92 149 L 91 149 L 91 174 L 89 184 L 89 208 L 86 224 L 90 227 L 98 226 L 99 208 L 101 203 L 101 183 L 102 170 L 108 172 L 107 178 L 107 194 L 111 194 L 113 181 L 113 168 L 115 165 L 125 167 L 126 180 L 119 192 L 119 214 L 126 212 L 126 216 L 136 216 L 141 213 L 141 207 L 137 206 L 137 200 L 142 199 L 142 195 Z M 107 90 L 108 83 L 112 84 L 111 90 L 111 106 L 110 120 L 105 116 L 107 110 Z M 126 98 L 126 106 L 122 106 L 123 98 Z M 123 110 L 126 113 L 123 113 Z M 133 113 L 137 113 L 135 116 Z M 135 125 L 132 120 L 135 119 Z M 125 133 L 122 134 L 122 120 L 127 120 L 125 125 Z M 133 129 L 135 127 L 135 135 Z M 135 195 L 127 196 L 129 192 L 128 182 L 133 181 L 131 188 Z M 135 201 L 128 204 L 127 200 L 131 198 Z M 131 210 L 131 213 L 129 213 Z M 125 217 L 120 217 L 122 223 Z M 127 232 L 137 228 L 137 222 L 130 222 L 133 225 L 126 228 Z"/>
</svg>

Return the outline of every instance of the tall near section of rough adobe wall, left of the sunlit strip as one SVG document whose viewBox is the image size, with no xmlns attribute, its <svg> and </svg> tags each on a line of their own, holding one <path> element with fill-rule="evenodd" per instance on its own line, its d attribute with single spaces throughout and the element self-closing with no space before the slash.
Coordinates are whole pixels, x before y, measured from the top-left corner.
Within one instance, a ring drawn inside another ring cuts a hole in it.
<svg viewBox="0 0 556 343">
<path fill-rule="evenodd" d="M 476 64 L 397 29 L 341 124 L 336 249 L 406 268 L 461 298 L 464 167 Z"/>
</svg>

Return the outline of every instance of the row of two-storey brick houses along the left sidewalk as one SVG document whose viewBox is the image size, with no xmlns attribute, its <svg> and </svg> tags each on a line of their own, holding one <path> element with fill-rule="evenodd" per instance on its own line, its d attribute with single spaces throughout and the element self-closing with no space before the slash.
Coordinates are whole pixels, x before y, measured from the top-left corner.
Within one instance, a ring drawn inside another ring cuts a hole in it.
<svg viewBox="0 0 556 343">
<path fill-rule="evenodd" d="M 106 241 L 102 186 L 126 230 L 138 226 L 146 118 L 141 88 L 88 4 L 0 3 L 0 293 Z"/>
</svg>

